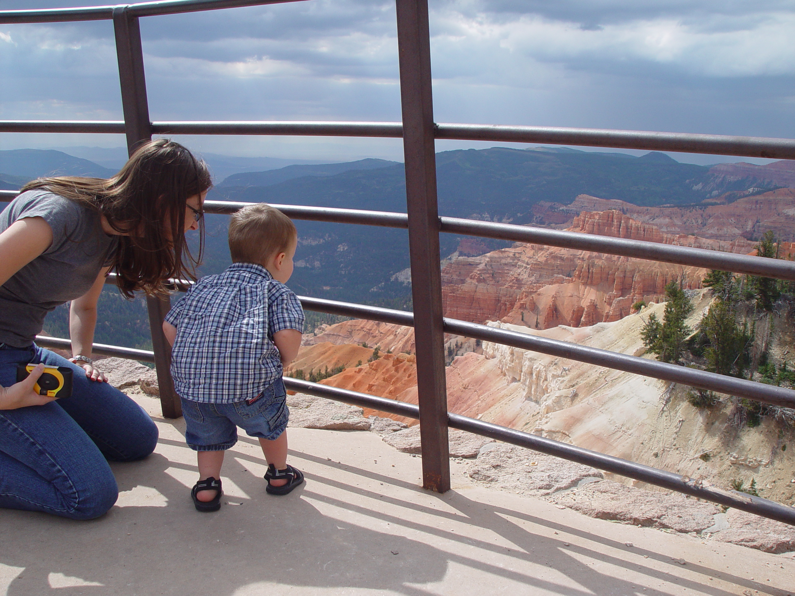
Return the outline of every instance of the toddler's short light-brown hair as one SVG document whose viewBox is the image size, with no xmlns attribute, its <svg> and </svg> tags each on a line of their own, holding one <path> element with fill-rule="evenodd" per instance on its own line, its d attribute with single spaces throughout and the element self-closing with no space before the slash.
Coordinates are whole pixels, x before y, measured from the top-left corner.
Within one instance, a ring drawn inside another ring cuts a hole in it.
<svg viewBox="0 0 795 596">
<path fill-rule="evenodd" d="M 278 209 L 267 203 L 247 205 L 229 223 L 232 262 L 265 265 L 273 255 L 286 253 L 297 236 L 293 220 Z"/>
</svg>

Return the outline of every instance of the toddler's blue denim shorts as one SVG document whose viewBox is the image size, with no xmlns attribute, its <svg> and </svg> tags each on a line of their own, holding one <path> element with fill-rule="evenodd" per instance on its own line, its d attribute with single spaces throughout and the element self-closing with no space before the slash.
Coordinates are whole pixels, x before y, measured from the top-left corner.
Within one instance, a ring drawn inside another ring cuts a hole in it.
<svg viewBox="0 0 795 596">
<path fill-rule="evenodd" d="M 223 451 L 238 442 L 238 427 L 253 437 L 272 441 L 287 428 L 287 392 L 281 378 L 252 403 L 205 404 L 182 398 L 185 441 L 194 451 Z"/>
</svg>

